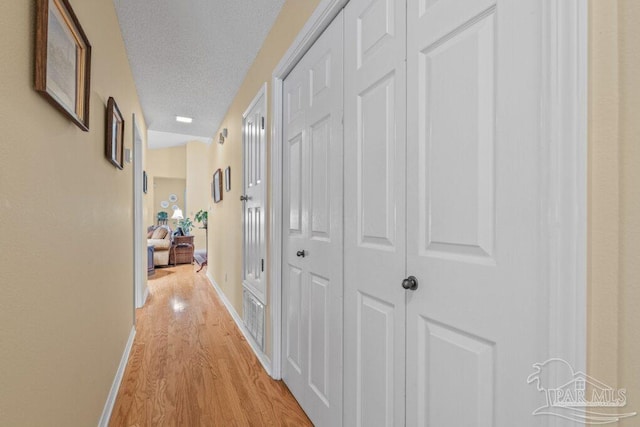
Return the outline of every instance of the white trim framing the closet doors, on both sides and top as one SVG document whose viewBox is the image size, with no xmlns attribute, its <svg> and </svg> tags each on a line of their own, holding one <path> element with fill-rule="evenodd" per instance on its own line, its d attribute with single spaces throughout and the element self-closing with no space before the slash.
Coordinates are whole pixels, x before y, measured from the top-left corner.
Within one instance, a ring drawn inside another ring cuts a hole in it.
<svg viewBox="0 0 640 427">
<path fill-rule="evenodd" d="M 283 82 L 348 0 L 321 0 L 272 75 L 269 296 L 271 376 L 282 376 Z M 587 290 L 587 40 L 582 0 L 543 0 L 540 209 L 548 218 L 540 239 L 548 257 L 540 280 L 549 298 L 549 357 L 586 369 Z M 542 360 L 539 362 L 543 362 Z M 564 420 L 557 420 L 563 425 Z"/>
</svg>

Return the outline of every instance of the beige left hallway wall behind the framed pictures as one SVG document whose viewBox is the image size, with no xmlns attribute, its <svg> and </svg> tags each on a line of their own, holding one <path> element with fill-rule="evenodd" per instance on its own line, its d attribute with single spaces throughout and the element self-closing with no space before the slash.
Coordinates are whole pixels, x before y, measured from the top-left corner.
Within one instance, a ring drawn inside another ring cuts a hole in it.
<svg viewBox="0 0 640 427">
<path fill-rule="evenodd" d="M 90 131 L 33 89 L 35 1 L 0 13 L 0 425 L 96 425 L 133 324 L 133 167 L 105 158 L 113 96 L 146 126 L 111 0 L 71 0 L 93 46 Z"/>
</svg>

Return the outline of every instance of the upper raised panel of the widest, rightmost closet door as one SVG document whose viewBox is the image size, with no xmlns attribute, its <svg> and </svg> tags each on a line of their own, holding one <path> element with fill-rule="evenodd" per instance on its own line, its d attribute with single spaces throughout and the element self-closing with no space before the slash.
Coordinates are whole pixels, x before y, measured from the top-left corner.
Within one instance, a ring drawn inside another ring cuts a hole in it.
<svg viewBox="0 0 640 427">
<path fill-rule="evenodd" d="M 494 28 L 491 13 L 419 55 L 420 235 L 429 256 L 493 262 Z"/>
</svg>

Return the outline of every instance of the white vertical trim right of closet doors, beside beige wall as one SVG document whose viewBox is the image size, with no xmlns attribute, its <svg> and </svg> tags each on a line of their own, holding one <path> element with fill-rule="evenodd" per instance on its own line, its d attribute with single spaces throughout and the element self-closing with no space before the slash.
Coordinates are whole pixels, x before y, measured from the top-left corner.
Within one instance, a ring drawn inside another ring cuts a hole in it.
<svg viewBox="0 0 640 427">
<path fill-rule="evenodd" d="M 587 371 L 588 5 L 544 0 L 541 241 L 547 246 L 549 357 Z M 544 279 L 544 277 L 541 276 Z M 573 425 L 556 420 L 558 426 Z"/>
</svg>

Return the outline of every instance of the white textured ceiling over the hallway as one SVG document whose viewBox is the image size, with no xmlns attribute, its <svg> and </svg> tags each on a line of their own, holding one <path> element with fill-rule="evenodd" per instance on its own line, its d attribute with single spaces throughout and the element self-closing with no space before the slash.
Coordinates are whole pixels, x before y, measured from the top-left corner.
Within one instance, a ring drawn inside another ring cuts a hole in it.
<svg viewBox="0 0 640 427">
<path fill-rule="evenodd" d="M 149 130 L 211 138 L 284 0 L 113 3 Z"/>
</svg>

